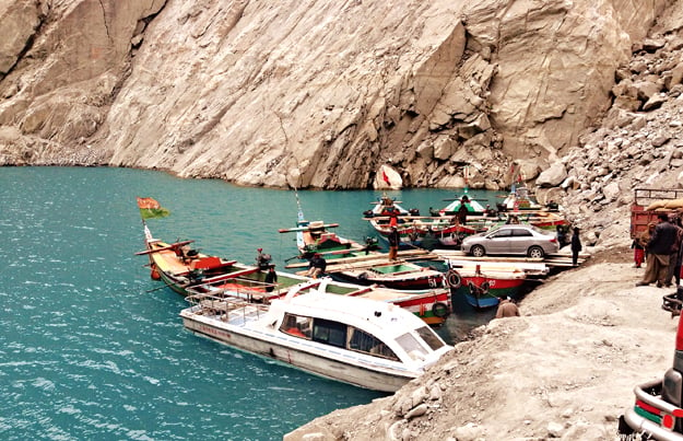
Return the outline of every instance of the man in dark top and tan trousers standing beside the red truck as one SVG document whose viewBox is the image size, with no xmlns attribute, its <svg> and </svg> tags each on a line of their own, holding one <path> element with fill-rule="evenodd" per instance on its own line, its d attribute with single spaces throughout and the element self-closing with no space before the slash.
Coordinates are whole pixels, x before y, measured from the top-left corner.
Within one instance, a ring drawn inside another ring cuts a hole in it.
<svg viewBox="0 0 683 441">
<path fill-rule="evenodd" d="M 657 288 L 662 288 L 667 283 L 671 247 L 676 241 L 678 230 L 669 222 L 667 213 L 660 213 L 658 218 L 659 223 L 655 227 L 655 232 L 647 244 L 648 265 L 643 280 L 637 282 L 636 287 L 657 281 Z M 675 263 L 672 264 L 675 265 Z"/>
</svg>

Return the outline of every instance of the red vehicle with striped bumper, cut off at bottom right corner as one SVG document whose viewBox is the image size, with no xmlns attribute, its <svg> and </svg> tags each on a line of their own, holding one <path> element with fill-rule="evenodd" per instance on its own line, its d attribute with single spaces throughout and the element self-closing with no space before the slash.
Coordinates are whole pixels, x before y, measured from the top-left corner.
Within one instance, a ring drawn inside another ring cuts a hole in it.
<svg viewBox="0 0 683 441">
<path fill-rule="evenodd" d="M 635 405 L 620 417 L 619 432 L 628 439 L 683 440 L 683 326 L 679 318 L 673 365 L 662 380 L 634 388 Z"/>
</svg>

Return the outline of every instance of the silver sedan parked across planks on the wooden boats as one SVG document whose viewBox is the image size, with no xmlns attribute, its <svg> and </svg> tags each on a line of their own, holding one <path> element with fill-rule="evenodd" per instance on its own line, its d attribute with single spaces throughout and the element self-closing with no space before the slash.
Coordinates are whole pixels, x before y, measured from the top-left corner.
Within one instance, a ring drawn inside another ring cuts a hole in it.
<svg viewBox="0 0 683 441">
<path fill-rule="evenodd" d="M 555 234 L 529 224 L 505 224 L 485 233 L 473 234 L 462 241 L 462 251 L 474 257 L 486 254 L 521 254 L 542 258 L 557 253 L 560 244 Z"/>
</svg>

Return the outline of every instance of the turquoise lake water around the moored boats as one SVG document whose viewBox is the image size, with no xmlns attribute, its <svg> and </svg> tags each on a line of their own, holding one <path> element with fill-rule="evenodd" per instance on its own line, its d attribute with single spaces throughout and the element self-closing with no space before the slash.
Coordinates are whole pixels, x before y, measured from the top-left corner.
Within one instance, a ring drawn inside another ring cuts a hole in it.
<svg viewBox="0 0 683 441">
<path fill-rule="evenodd" d="M 480 197 L 470 192 L 471 196 Z M 309 220 L 373 235 L 362 212 L 376 192 L 299 192 Z M 447 190 L 390 193 L 405 208 L 440 208 Z M 296 254 L 293 192 L 240 188 L 119 169 L 0 169 L 0 439 L 271 440 L 378 393 L 232 350 L 185 330 L 184 300 L 158 288 L 143 248 L 137 196 L 170 216 L 165 241 L 279 268 Z M 492 196 L 484 193 L 481 197 Z M 467 305 L 439 333 L 485 323 Z"/>
</svg>

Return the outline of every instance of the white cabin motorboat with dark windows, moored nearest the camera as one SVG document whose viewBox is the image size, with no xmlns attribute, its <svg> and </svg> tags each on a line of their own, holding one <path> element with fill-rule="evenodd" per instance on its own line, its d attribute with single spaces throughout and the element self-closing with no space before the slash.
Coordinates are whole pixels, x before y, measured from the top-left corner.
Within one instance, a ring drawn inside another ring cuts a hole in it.
<svg viewBox="0 0 683 441">
<path fill-rule="evenodd" d="M 395 392 L 451 349 L 391 303 L 293 288 L 269 305 L 190 295 L 184 326 L 246 352 L 360 387 Z"/>
</svg>

